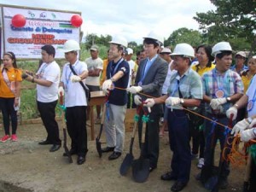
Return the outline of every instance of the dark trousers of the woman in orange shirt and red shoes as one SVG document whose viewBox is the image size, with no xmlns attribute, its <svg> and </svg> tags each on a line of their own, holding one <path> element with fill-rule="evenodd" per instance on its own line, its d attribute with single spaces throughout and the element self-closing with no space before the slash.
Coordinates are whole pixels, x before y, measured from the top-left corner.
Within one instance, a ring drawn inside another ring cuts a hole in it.
<svg viewBox="0 0 256 192">
<path fill-rule="evenodd" d="M 14 104 L 15 98 L 0 98 L 0 108 L 3 113 L 3 127 L 5 135 L 9 135 L 9 117 L 12 122 L 12 134 L 16 134 L 18 119 Z"/>
</svg>

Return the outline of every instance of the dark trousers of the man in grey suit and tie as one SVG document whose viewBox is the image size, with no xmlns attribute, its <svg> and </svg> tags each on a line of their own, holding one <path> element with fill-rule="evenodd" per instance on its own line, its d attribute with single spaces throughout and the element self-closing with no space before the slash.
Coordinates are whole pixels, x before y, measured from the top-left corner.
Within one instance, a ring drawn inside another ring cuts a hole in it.
<svg viewBox="0 0 256 192">
<path fill-rule="evenodd" d="M 143 112 L 140 113 L 138 121 L 138 135 L 139 143 L 142 141 L 142 129 L 143 129 Z M 151 167 L 157 167 L 157 161 L 159 157 L 159 120 L 160 114 L 149 113 L 149 120 L 146 126 L 145 143 L 143 148 L 143 156 L 149 159 Z"/>
</svg>

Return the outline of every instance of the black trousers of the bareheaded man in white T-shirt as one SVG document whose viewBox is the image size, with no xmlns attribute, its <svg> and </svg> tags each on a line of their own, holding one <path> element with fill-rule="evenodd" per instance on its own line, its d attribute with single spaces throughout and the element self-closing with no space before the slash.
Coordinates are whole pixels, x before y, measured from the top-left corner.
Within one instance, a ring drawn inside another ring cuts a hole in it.
<svg viewBox="0 0 256 192">
<path fill-rule="evenodd" d="M 46 140 L 52 144 L 61 144 L 59 126 L 55 120 L 57 102 L 38 102 L 38 111 L 48 134 Z"/>
</svg>

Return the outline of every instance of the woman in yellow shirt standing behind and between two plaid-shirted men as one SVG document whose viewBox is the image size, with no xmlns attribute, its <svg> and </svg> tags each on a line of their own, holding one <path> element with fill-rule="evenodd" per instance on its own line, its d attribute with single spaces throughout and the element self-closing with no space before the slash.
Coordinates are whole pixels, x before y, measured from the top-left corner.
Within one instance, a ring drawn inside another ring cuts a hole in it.
<svg viewBox="0 0 256 192">
<path fill-rule="evenodd" d="M 211 71 L 215 68 L 215 65 L 212 64 L 214 58 L 212 57 L 212 47 L 207 46 L 205 44 L 200 45 L 196 49 L 196 57 L 198 60 L 198 64 L 192 66 L 192 69 L 195 70 L 200 76 L 203 73 Z M 205 111 L 204 103 L 201 102 L 201 113 L 203 114 Z M 192 124 L 192 159 L 198 157 L 198 151 L 200 149 L 199 154 L 199 162 L 197 164 L 198 168 L 201 168 L 204 165 L 204 148 L 205 148 L 205 137 L 203 133 L 203 124 L 201 125 L 193 125 Z"/>
</svg>

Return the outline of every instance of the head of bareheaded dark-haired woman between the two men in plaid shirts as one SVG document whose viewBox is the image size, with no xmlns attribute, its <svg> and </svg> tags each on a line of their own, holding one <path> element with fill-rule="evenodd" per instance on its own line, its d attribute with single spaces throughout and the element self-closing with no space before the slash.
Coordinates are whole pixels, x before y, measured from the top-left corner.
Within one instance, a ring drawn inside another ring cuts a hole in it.
<svg viewBox="0 0 256 192">
<path fill-rule="evenodd" d="M 201 61 L 207 60 L 207 67 L 212 66 L 212 61 L 214 60 L 214 57 L 212 56 L 212 47 L 207 44 L 201 44 L 195 49 L 195 55 L 198 59 L 199 63 Z"/>
</svg>

